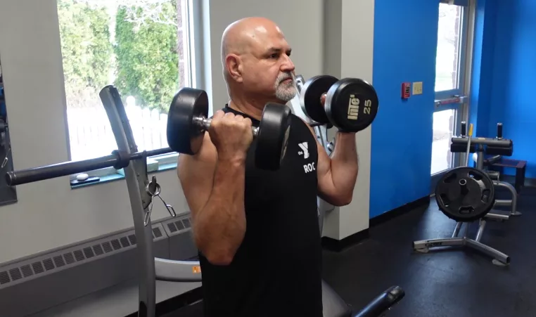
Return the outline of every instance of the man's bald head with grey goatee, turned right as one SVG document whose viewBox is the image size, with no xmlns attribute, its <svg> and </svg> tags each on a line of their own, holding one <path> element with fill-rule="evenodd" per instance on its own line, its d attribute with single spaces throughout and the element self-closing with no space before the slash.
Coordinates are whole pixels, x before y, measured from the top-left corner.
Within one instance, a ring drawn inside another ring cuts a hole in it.
<svg viewBox="0 0 536 317">
<path fill-rule="evenodd" d="M 267 18 L 243 18 L 222 36 L 222 65 L 231 100 L 286 103 L 296 93 L 291 46 Z M 290 79 L 290 80 L 289 80 Z"/>
</svg>

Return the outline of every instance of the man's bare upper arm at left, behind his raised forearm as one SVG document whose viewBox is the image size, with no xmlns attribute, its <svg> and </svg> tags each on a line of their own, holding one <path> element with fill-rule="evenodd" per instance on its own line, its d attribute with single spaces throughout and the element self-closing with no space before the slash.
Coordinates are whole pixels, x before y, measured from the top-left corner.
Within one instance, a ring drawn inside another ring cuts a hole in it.
<svg viewBox="0 0 536 317">
<path fill-rule="evenodd" d="M 177 174 L 192 216 L 205 207 L 212 192 L 217 152 L 208 134 L 196 155 L 180 155 Z"/>
</svg>

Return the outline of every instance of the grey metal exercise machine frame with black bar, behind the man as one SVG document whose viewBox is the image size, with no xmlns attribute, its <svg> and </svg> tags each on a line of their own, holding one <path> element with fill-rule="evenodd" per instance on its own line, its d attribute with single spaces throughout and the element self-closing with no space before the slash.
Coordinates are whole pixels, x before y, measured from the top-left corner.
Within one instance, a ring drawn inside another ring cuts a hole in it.
<svg viewBox="0 0 536 317">
<path fill-rule="evenodd" d="M 99 96 L 110 120 L 110 126 L 117 142 L 117 150 L 114 150 L 112 155 L 8 172 L 6 174 L 6 181 L 8 185 L 16 186 L 104 167 L 124 169 L 132 208 L 132 217 L 134 219 L 134 233 L 136 235 L 136 253 L 139 269 L 138 316 L 155 317 L 156 280 L 202 282 L 199 261 L 160 259 L 155 258 L 153 253 L 151 210 L 153 199 L 160 193 L 160 186 L 156 182 L 155 176 L 151 180 L 148 179 L 147 157 L 172 153 L 172 150 L 170 148 L 163 148 L 140 152 L 132 134 L 129 119 L 125 112 L 125 106 L 121 101 L 117 89 L 114 86 L 106 86 L 101 90 Z M 325 134 L 327 138 L 326 127 L 324 127 L 324 130 L 322 130 L 322 127 L 318 127 L 317 131 L 318 133 L 322 133 L 322 137 Z M 321 143 L 326 144 L 325 139 L 323 140 Z M 326 146 L 328 145 L 326 144 Z M 162 202 L 164 201 L 162 200 Z M 165 202 L 164 205 L 170 214 L 175 216 L 173 207 L 165 204 Z M 321 212 L 319 217 L 323 219 L 324 212 Z M 324 285 L 326 284 L 323 283 L 323 294 L 326 295 L 329 290 L 327 287 L 324 290 Z M 324 307 L 333 304 L 333 302 L 329 301 L 333 301 L 334 297 L 325 299 L 324 295 Z M 404 297 L 404 292 L 400 287 L 390 287 L 354 316 L 381 316 L 391 306 L 399 302 L 402 297 Z M 339 315 L 336 316 L 338 317 Z"/>
</svg>

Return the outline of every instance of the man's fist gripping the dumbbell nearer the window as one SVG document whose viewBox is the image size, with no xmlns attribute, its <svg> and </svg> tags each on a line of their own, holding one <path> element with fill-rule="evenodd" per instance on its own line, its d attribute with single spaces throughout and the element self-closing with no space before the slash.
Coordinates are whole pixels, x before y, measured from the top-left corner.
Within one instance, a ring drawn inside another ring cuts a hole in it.
<svg viewBox="0 0 536 317">
<path fill-rule="evenodd" d="M 222 110 L 215 113 L 208 134 L 216 147 L 218 160 L 245 160 L 253 141 L 251 125 L 251 120 L 241 115 Z"/>
</svg>

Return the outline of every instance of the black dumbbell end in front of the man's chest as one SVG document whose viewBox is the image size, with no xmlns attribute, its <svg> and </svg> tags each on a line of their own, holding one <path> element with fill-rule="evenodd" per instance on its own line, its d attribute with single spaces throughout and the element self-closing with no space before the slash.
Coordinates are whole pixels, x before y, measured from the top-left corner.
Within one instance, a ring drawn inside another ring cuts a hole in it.
<svg viewBox="0 0 536 317">
<path fill-rule="evenodd" d="M 267 103 L 264 106 L 255 148 L 256 167 L 270 171 L 279 169 L 286 153 L 291 120 L 291 109 L 286 105 Z"/>
</svg>

